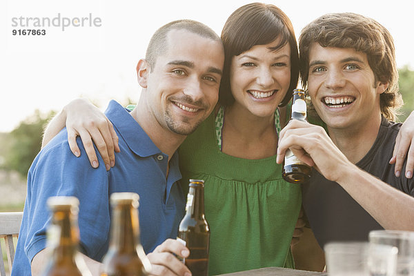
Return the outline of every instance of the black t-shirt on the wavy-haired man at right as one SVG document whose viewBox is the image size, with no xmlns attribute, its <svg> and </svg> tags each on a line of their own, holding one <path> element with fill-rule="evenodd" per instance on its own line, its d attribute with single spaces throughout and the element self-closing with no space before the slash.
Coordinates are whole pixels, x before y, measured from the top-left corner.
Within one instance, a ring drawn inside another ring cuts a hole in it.
<svg viewBox="0 0 414 276">
<path fill-rule="evenodd" d="M 400 126 L 383 117 L 377 139 L 356 165 L 414 196 L 414 181 L 404 176 L 406 161 L 400 177 L 394 175 L 395 165 L 388 163 L 393 156 Z M 339 184 L 328 181 L 316 170 L 312 173 L 310 183 L 302 186 L 303 204 L 309 224 L 322 248 L 327 242 L 367 241 L 371 230 L 383 229 Z"/>
</svg>

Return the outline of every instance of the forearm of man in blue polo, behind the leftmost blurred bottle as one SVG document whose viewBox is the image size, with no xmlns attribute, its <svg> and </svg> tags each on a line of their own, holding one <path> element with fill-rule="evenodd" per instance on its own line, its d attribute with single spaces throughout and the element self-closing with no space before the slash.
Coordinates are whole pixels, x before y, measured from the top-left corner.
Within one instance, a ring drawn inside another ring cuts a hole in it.
<svg viewBox="0 0 414 276">
<path fill-rule="evenodd" d="M 91 259 L 90 257 L 79 253 L 83 257 L 83 261 L 90 270 L 93 276 L 99 276 L 101 263 Z M 48 264 L 50 259 L 50 248 L 41 250 L 32 260 L 32 276 L 41 275 L 45 265 Z"/>
</svg>

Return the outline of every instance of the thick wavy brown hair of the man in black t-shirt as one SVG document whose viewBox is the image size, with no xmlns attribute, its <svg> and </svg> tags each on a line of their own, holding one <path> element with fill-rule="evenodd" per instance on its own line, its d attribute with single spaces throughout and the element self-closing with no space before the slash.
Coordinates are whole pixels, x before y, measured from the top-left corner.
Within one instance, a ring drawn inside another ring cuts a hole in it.
<svg viewBox="0 0 414 276">
<path fill-rule="evenodd" d="M 380 95 L 381 112 L 388 120 L 395 120 L 402 106 L 398 92 L 398 70 L 395 47 L 390 32 L 374 19 L 351 12 L 325 14 L 309 23 L 299 37 L 302 86 L 308 85 L 309 51 L 313 43 L 322 47 L 352 48 L 364 52 L 375 81 L 388 82 Z"/>
</svg>

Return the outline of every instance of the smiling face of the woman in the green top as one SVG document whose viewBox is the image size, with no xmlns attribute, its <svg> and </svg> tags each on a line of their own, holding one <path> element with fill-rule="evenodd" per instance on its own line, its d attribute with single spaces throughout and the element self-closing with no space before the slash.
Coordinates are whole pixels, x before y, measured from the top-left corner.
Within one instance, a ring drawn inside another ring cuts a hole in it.
<svg viewBox="0 0 414 276">
<path fill-rule="evenodd" d="M 290 85 L 290 48 L 279 50 L 275 40 L 257 45 L 233 57 L 230 66 L 230 88 L 233 105 L 257 117 L 273 116 Z"/>
</svg>

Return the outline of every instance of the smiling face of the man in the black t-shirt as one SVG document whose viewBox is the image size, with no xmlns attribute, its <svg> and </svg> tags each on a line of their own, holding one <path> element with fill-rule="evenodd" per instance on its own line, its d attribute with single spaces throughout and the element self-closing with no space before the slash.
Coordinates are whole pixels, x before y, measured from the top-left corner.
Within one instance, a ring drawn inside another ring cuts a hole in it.
<svg viewBox="0 0 414 276">
<path fill-rule="evenodd" d="M 375 81 L 364 52 L 322 47 L 309 52 L 308 92 L 328 128 L 372 124 L 381 115 L 380 94 L 388 83 Z"/>
</svg>

